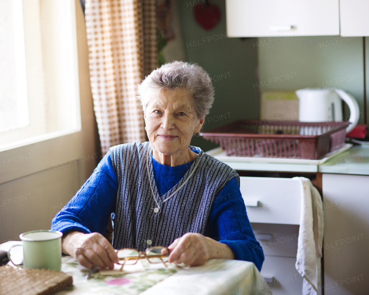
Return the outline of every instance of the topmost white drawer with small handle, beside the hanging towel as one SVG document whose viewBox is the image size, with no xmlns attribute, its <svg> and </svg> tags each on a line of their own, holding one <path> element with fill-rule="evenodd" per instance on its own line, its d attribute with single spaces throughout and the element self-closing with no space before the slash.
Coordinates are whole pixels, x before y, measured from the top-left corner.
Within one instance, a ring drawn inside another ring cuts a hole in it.
<svg viewBox="0 0 369 295">
<path fill-rule="evenodd" d="M 240 177 L 250 222 L 300 224 L 302 185 L 297 179 Z"/>
</svg>

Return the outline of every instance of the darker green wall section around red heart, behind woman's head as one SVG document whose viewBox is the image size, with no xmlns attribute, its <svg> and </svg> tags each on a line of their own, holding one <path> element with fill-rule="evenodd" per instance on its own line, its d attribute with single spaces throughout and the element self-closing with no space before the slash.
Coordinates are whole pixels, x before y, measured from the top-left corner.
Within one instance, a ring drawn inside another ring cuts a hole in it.
<svg viewBox="0 0 369 295">
<path fill-rule="evenodd" d="M 215 88 L 214 105 L 203 130 L 237 119 L 257 119 L 259 93 L 252 87 L 257 67 L 257 51 L 252 44 L 256 43 L 256 38 L 241 40 L 225 37 L 224 0 L 211 1 L 211 4 L 220 8 L 222 17 L 220 23 L 210 31 L 196 23 L 192 4 L 193 1 L 189 0 L 177 1 L 186 61 L 196 62 L 210 73 Z M 201 137 L 194 137 L 191 144 L 204 151 L 217 147 Z"/>
</svg>

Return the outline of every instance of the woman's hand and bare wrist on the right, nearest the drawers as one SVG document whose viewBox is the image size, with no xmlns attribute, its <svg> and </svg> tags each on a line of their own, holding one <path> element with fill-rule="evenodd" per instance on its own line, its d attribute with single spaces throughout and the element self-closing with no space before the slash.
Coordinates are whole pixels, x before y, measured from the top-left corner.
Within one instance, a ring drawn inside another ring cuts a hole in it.
<svg viewBox="0 0 369 295">
<path fill-rule="evenodd" d="M 186 265 L 203 265 L 212 258 L 234 259 L 234 253 L 226 244 L 219 243 L 199 233 L 186 233 L 168 247 L 169 262 Z"/>
</svg>

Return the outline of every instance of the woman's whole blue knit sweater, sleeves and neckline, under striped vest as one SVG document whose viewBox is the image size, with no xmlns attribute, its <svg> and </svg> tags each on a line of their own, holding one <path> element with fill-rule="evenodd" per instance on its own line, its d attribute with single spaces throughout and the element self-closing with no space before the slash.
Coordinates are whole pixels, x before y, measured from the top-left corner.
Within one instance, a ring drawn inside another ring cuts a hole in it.
<svg viewBox="0 0 369 295">
<path fill-rule="evenodd" d="M 170 167 L 160 164 L 154 158 L 152 163 L 156 186 L 161 195 L 175 186 L 192 164 L 190 162 Z M 110 153 L 107 153 L 76 195 L 56 214 L 51 229 L 63 233 L 70 230 L 104 233 L 109 217 L 114 212 L 117 188 L 117 175 Z M 94 195 L 104 198 L 91 198 Z M 228 181 L 215 198 L 208 217 L 208 228 L 209 236 L 227 244 L 235 259 L 251 261 L 259 271 L 261 270 L 264 261 L 263 250 L 255 239 L 235 178 Z"/>
</svg>

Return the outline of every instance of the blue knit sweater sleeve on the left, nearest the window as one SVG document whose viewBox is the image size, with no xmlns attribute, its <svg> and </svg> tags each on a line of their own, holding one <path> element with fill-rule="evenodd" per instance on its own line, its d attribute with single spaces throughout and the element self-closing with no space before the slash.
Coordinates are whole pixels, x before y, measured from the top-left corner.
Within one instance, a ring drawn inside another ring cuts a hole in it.
<svg viewBox="0 0 369 295">
<path fill-rule="evenodd" d="M 114 211 L 117 189 L 118 179 L 108 152 L 76 195 L 56 214 L 51 229 L 103 234 Z"/>
</svg>

